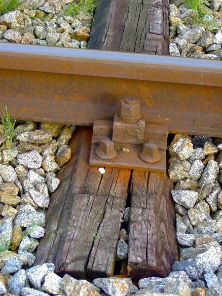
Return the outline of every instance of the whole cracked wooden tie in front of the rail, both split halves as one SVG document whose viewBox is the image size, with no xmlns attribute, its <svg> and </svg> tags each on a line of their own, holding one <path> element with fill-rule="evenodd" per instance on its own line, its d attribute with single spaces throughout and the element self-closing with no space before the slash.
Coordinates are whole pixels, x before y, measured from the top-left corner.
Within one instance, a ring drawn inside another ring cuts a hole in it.
<svg viewBox="0 0 222 296">
<path fill-rule="evenodd" d="M 88 164 L 92 129 L 79 127 L 72 157 L 51 196 L 46 233 L 35 265 L 53 262 L 56 272 L 76 278 L 112 276 L 121 220 L 131 196 L 128 276 L 166 276 L 177 259 L 172 182 L 166 173 Z"/>
</svg>

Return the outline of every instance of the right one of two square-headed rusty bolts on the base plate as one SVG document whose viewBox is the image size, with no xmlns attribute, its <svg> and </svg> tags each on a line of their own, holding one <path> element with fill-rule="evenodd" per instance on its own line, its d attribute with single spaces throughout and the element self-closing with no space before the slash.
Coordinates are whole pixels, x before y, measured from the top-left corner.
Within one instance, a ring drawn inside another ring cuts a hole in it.
<svg viewBox="0 0 222 296">
<path fill-rule="evenodd" d="M 161 155 L 159 153 L 158 146 L 149 141 L 146 142 L 144 144 L 143 151 L 140 152 L 140 159 L 148 163 L 154 163 L 154 162 L 158 162 L 160 158 L 161 158 Z"/>
</svg>

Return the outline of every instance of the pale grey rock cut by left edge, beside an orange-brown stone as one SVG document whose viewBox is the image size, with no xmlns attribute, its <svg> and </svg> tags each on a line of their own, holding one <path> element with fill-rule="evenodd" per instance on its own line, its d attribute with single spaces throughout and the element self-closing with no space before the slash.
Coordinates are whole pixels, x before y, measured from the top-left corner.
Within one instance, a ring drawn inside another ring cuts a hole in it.
<svg viewBox="0 0 222 296">
<path fill-rule="evenodd" d="M 0 250 L 8 250 L 12 239 L 12 218 L 5 217 L 0 220 Z"/>
</svg>

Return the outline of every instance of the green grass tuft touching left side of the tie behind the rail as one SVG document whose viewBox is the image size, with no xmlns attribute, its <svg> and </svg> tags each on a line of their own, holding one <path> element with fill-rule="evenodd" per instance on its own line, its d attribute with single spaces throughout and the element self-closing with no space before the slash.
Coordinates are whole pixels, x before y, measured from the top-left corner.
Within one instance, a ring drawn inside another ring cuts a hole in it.
<svg viewBox="0 0 222 296">
<path fill-rule="evenodd" d="M 78 15 L 80 11 L 84 11 L 93 17 L 94 10 L 98 5 L 99 0 L 80 0 L 78 4 L 73 2 L 67 5 L 65 15 L 74 16 Z"/>
</svg>

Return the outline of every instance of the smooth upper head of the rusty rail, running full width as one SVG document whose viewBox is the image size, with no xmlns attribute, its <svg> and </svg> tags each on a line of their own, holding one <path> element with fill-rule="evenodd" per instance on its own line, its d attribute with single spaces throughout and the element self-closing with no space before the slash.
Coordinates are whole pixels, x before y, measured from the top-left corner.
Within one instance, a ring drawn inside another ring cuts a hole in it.
<svg viewBox="0 0 222 296">
<path fill-rule="evenodd" d="M 218 60 L 0 43 L 0 68 L 222 86 Z"/>
</svg>

